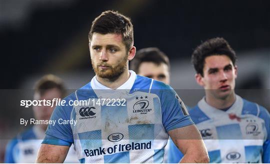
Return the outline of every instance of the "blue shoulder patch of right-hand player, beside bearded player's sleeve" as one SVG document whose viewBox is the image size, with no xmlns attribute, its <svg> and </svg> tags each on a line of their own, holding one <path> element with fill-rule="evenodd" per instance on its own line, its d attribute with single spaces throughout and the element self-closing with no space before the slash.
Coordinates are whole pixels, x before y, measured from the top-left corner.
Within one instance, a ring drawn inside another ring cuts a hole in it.
<svg viewBox="0 0 270 164">
<path fill-rule="evenodd" d="M 198 105 L 194 107 L 188 107 L 188 113 L 195 124 L 209 120 L 209 117 L 204 112 L 202 112 Z"/>
</svg>

